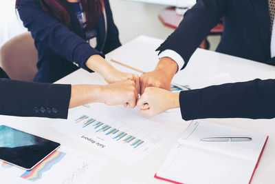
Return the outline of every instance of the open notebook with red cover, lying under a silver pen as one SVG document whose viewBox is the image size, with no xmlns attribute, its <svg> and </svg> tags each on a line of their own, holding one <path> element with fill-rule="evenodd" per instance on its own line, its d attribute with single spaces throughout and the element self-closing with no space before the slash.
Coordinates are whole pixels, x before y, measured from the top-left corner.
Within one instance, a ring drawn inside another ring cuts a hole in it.
<svg viewBox="0 0 275 184">
<path fill-rule="evenodd" d="M 252 141 L 204 142 L 208 137 L 250 137 Z M 268 136 L 192 121 L 155 174 L 172 183 L 250 183 Z"/>
</svg>

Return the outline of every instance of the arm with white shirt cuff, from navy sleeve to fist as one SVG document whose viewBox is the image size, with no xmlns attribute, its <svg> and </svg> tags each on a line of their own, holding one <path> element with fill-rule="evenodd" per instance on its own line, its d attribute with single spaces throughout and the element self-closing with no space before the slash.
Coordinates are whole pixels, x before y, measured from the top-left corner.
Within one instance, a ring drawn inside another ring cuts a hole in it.
<svg viewBox="0 0 275 184">
<path fill-rule="evenodd" d="M 219 19 L 225 14 L 227 3 L 227 0 L 198 0 L 195 6 L 184 14 L 184 19 L 177 30 L 157 48 L 157 51 L 160 54 L 165 50 L 177 52 L 183 59 L 184 63 L 182 65 L 185 67 L 201 41 L 206 38 L 210 30 L 217 25 Z M 164 68 L 166 68 L 166 70 L 162 71 L 162 75 L 170 80 L 163 80 L 160 77 L 159 65 L 157 65 L 153 72 L 141 76 L 142 89 L 149 86 L 160 86 L 159 88 L 168 90 L 167 87 L 170 86 L 170 81 L 173 79 L 175 72 L 182 69 L 178 68 L 176 60 L 180 61 L 181 59 L 174 60 L 170 58 L 170 61 L 168 61 L 165 56 L 162 56 L 159 63 L 162 63 Z M 171 64 L 171 61 L 174 64 Z M 159 83 L 160 85 L 157 86 Z"/>
</svg>

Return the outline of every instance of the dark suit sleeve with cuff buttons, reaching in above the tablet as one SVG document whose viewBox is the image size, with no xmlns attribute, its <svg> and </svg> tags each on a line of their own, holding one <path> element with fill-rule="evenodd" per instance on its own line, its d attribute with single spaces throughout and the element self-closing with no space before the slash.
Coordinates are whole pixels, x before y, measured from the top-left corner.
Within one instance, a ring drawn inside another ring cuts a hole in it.
<svg viewBox="0 0 275 184">
<path fill-rule="evenodd" d="M 67 119 L 71 85 L 0 79 L 0 114 Z"/>
</svg>

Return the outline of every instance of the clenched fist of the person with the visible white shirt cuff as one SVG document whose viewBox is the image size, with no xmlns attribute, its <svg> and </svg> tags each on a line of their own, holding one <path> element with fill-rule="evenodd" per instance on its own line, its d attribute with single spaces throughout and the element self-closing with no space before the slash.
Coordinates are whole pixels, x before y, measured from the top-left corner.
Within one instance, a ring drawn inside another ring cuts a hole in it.
<svg viewBox="0 0 275 184">
<path fill-rule="evenodd" d="M 140 94 L 147 87 L 157 87 L 170 91 L 170 83 L 175 72 L 177 72 L 177 63 L 173 59 L 169 57 L 160 59 L 153 72 L 144 73 L 140 76 Z"/>
</svg>

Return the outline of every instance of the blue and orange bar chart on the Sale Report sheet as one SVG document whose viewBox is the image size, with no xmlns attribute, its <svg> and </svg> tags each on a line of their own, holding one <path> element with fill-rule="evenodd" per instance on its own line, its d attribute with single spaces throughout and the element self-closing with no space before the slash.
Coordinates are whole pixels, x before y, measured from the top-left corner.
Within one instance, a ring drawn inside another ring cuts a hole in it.
<svg viewBox="0 0 275 184">
<path fill-rule="evenodd" d="M 113 141 L 122 141 L 122 143 L 128 143 L 133 148 L 139 147 L 144 143 L 141 139 L 137 139 L 135 136 L 127 134 L 121 130 L 111 127 L 111 125 L 102 123 L 94 118 L 90 118 L 87 115 L 79 116 L 75 123 L 82 123 L 82 127 L 85 128 L 88 125 L 94 128 L 95 132 L 102 132 L 105 136 L 111 136 Z"/>
</svg>

